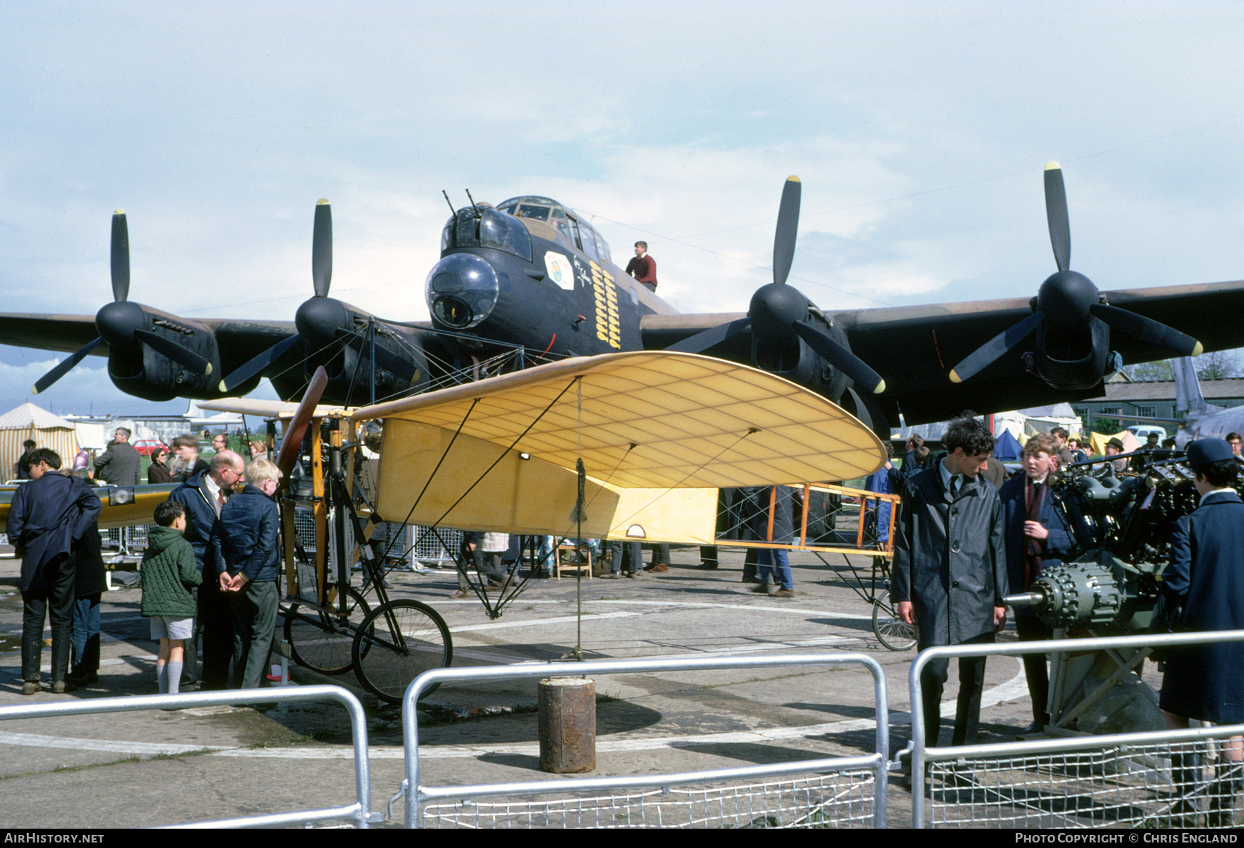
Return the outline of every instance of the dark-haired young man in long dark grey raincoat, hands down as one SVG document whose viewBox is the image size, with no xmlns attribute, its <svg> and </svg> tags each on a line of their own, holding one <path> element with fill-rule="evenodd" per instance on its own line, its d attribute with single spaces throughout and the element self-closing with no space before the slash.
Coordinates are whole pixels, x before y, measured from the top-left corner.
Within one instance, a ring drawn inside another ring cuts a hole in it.
<svg viewBox="0 0 1244 848">
<path fill-rule="evenodd" d="M 994 436 L 974 418 L 950 422 L 947 456 L 903 485 L 894 528 L 891 597 L 898 614 L 919 627 L 919 649 L 993 642 L 1006 623 L 1006 551 L 1003 507 L 980 470 Z M 948 660 L 924 666 L 924 732 L 937 745 Z M 959 660 L 959 704 L 952 745 L 970 744 L 980 724 L 985 658 Z M 913 705 L 914 706 L 914 705 Z"/>
</svg>

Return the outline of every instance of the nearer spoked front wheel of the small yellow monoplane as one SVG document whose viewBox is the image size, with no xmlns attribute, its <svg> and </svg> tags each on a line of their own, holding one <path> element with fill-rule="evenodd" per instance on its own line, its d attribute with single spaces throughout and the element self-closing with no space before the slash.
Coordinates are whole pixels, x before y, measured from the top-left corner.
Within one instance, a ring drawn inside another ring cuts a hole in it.
<svg viewBox="0 0 1244 848">
<path fill-rule="evenodd" d="M 355 674 L 369 691 L 401 704 L 406 688 L 419 674 L 453 661 L 454 647 L 435 609 L 418 601 L 393 601 L 363 619 L 351 657 Z M 435 686 L 423 694 L 433 691 Z"/>
</svg>

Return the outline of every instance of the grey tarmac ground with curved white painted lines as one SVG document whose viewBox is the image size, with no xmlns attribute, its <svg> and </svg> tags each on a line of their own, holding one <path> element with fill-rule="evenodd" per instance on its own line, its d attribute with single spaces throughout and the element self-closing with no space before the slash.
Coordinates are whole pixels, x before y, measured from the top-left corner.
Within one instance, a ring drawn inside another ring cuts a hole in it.
<svg viewBox="0 0 1244 848">
<path fill-rule="evenodd" d="M 850 572 L 795 553 L 795 597 L 750 592 L 743 552 L 700 571 L 698 551 L 674 551 L 669 571 L 637 579 L 582 579 L 586 659 L 740 657 L 862 652 L 884 669 L 892 756 L 909 739 L 907 671 L 914 650 L 892 652 L 872 632 L 872 608 Z M 845 558 L 829 558 L 842 567 Z M 867 574 L 871 560 L 852 557 Z M 108 592 L 102 608 L 100 683 L 66 695 L 22 696 L 21 596 L 14 560 L 0 561 L 0 705 L 156 693 L 157 644 L 139 615 L 139 591 Z M 498 620 L 475 598 L 453 599 L 453 571 L 393 572 L 391 597 L 433 606 L 454 644 L 454 666 L 557 660 L 576 647 L 576 579 L 530 581 Z M 358 577 L 356 572 L 356 587 Z M 1014 629 L 1001 639 L 1014 639 Z M 50 649 L 44 653 L 47 684 Z M 957 694 L 952 663 L 942 732 Z M 567 663 L 567 674 L 573 663 Z M 377 704 L 353 674 L 304 684 L 351 688 L 368 710 L 372 809 L 402 781 L 399 707 Z M 873 685 L 862 668 L 646 673 L 596 678 L 593 777 L 858 756 L 875 749 Z M 552 777 L 539 768 L 536 680 L 447 684 L 420 715 L 422 782 L 453 786 Z M 995 658 L 986 670 L 982 741 L 1011 740 L 1031 720 L 1023 668 Z M 0 827 L 112 828 L 333 807 L 355 800 L 348 714 L 337 704 L 265 711 L 218 706 L 141 710 L 0 722 Z M 401 827 L 394 818 L 378 827 Z M 891 776 L 891 827 L 911 826 L 911 795 Z"/>
</svg>

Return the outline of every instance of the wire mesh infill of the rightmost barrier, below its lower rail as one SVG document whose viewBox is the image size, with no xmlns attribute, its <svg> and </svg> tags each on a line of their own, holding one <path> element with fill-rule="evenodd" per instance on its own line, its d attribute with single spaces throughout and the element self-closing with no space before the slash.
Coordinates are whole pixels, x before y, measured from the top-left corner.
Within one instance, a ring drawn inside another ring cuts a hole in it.
<svg viewBox="0 0 1244 848">
<path fill-rule="evenodd" d="M 1234 827 L 1239 762 L 1214 744 L 1153 744 L 929 765 L 931 827 Z"/>
</svg>

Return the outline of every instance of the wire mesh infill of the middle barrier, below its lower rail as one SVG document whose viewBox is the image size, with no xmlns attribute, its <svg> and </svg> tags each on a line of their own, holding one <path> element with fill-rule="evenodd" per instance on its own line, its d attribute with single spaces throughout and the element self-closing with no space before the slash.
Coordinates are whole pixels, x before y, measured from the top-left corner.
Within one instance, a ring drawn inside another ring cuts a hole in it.
<svg viewBox="0 0 1244 848">
<path fill-rule="evenodd" d="M 420 806 L 433 828 L 867 828 L 872 771 L 840 771 L 712 786 L 522 796 Z"/>
</svg>

